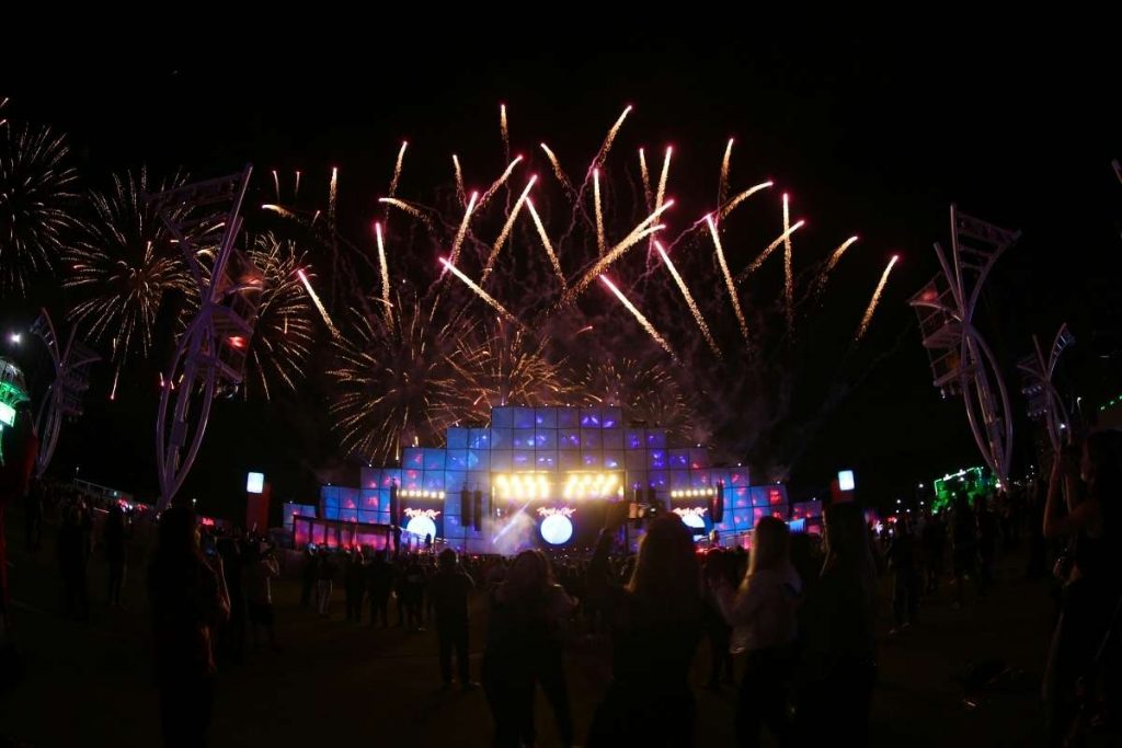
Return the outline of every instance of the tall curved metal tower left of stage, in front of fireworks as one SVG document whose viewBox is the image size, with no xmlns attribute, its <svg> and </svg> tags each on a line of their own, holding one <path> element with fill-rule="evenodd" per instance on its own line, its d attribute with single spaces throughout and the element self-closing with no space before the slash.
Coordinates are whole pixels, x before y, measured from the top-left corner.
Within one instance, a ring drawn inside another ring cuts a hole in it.
<svg viewBox="0 0 1122 748">
<path fill-rule="evenodd" d="M 240 174 L 149 197 L 199 289 L 199 312 L 181 335 L 162 382 L 156 419 L 159 509 L 172 504 L 194 464 L 214 395 L 242 380 L 264 286 L 261 273 L 234 246 L 251 173 L 248 165 Z M 204 266 L 201 258 L 213 261 Z"/>
</svg>

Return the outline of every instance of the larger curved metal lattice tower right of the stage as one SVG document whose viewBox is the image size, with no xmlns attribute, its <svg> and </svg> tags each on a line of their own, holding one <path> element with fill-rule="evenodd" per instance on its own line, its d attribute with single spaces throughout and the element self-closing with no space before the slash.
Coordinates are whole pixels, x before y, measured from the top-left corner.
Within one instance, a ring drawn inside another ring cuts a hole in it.
<svg viewBox="0 0 1122 748">
<path fill-rule="evenodd" d="M 950 206 L 951 256 L 938 242 L 942 268 L 909 304 L 919 316 L 935 386 L 944 397 L 962 395 L 974 441 L 999 480 L 1009 480 L 1013 419 L 997 360 L 974 327 L 978 295 L 997 258 L 1020 232 L 959 213 Z M 996 391 L 994 391 L 996 386 Z"/>
</svg>

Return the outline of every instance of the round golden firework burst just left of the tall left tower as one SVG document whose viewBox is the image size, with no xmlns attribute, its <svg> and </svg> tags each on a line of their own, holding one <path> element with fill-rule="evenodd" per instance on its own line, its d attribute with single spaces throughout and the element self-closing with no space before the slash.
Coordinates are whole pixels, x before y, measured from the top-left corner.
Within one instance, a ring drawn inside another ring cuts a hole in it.
<svg viewBox="0 0 1122 748">
<path fill-rule="evenodd" d="M 93 215 L 66 250 L 64 286 L 88 294 L 70 318 L 93 341 L 109 338 L 118 371 L 134 354 L 149 354 L 156 315 L 168 294 L 196 294 L 178 248 L 144 197 L 184 183 L 178 175 L 150 183 L 146 169 L 116 176 L 112 190 L 90 195 Z"/>
</svg>

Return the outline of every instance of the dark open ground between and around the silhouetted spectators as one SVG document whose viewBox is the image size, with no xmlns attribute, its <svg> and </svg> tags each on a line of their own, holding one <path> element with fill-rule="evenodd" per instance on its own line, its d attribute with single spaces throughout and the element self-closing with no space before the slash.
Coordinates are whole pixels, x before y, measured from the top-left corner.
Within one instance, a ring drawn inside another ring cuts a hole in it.
<svg viewBox="0 0 1122 748">
<path fill-rule="evenodd" d="M 13 509 L 9 571 L 27 674 L 0 692 L 0 736 L 29 746 L 158 745 L 142 565 L 134 561 L 129 569 L 128 612 L 122 612 L 104 607 L 105 566 L 95 557 L 90 567 L 92 620 L 85 625 L 65 620 L 59 613 L 53 532 L 48 527 L 43 548 L 28 555 L 22 515 L 19 507 Z M 1037 694 L 1051 602 L 1047 582 L 1024 581 L 1023 570 L 1020 554 L 999 556 L 997 584 L 988 598 L 968 595 L 960 611 L 951 610 L 946 591 L 927 599 L 922 624 L 898 638 L 886 634 L 884 595 L 873 745 L 1042 745 Z M 245 664 L 220 674 L 212 745 L 489 744 L 491 723 L 482 692 L 439 691 L 432 631 L 411 635 L 347 624 L 338 587 L 331 620 L 300 608 L 297 595 L 291 580 L 277 585 L 283 652 L 263 647 Z M 477 678 L 482 619 L 480 610 L 471 639 Z M 994 658 L 1005 661 L 1013 676 L 1000 686 L 965 695 L 957 676 L 971 662 Z M 603 692 L 606 671 L 594 662 L 590 655 L 570 658 L 578 735 L 587 729 Z M 734 692 L 701 689 L 707 665 L 702 645 L 693 675 L 698 745 L 732 745 Z M 539 696 L 539 745 L 555 745 L 550 718 Z"/>
</svg>

